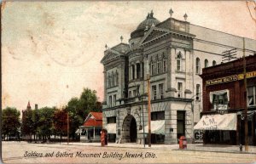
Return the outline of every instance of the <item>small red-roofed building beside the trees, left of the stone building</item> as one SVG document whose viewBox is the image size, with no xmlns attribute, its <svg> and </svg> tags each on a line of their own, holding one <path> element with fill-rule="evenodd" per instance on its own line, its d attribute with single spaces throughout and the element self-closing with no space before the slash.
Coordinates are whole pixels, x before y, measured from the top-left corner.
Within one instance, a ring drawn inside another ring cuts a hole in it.
<svg viewBox="0 0 256 164">
<path fill-rule="evenodd" d="M 102 113 L 90 112 L 85 118 L 84 124 L 79 127 L 76 133 L 80 135 L 80 141 L 100 142 L 102 131 Z"/>
</svg>

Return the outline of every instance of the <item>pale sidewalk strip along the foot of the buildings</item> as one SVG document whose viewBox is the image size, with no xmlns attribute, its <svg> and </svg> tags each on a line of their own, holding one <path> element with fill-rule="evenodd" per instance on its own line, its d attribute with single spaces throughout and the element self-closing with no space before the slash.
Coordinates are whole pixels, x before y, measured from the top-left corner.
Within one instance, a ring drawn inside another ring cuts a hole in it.
<svg viewBox="0 0 256 164">
<path fill-rule="evenodd" d="M 86 145 L 86 146 L 101 147 L 101 143 L 70 143 L 70 144 L 80 145 L 80 146 Z M 160 149 L 180 150 L 178 148 L 179 147 L 178 144 L 151 144 L 150 148 L 148 147 L 148 144 L 146 144 L 144 148 L 143 144 L 136 144 L 136 143 L 125 143 L 125 144 L 108 143 L 107 147 L 139 148 L 139 149 L 151 149 L 151 150 L 160 150 Z M 244 145 L 242 146 L 242 152 L 240 152 L 238 145 L 223 145 L 223 144 L 188 144 L 186 150 L 256 154 L 256 146 L 249 146 L 248 152 L 245 152 Z"/>
</svg>

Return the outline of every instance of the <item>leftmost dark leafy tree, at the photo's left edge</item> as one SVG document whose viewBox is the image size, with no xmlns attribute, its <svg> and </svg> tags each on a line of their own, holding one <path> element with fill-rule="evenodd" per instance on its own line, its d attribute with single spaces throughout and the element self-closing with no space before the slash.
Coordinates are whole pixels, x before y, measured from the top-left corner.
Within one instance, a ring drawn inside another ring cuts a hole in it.
<svg viewBox="0 0 256 164">
<path fill-rule="evenodd" d="M 20 137 L 20 111 L 16 108 L 7 107 L 2 111 L 2 133 L 3 135 Z M 17 136 L 19 135 L 19 136 Z"/>
</svg>

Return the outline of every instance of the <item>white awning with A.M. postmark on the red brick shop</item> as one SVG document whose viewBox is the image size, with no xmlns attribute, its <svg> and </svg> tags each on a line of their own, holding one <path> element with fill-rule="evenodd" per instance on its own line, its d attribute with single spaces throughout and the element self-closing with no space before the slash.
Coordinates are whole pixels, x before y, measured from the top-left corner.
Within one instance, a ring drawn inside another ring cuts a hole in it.
<svg viewBox="0 0 256 164">
<path fill-rule="evenodd" d="M 195 125 L 196 130 L 236 130 L 236 113 L 204 115 Z"/>
</svg>

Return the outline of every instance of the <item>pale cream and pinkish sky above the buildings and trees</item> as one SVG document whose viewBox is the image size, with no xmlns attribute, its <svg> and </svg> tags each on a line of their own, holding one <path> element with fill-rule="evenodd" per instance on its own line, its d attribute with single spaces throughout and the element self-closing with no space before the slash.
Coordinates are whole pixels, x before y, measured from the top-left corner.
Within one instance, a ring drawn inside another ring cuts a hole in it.
<svg viewBox="0 0 256 164">
<path fill-rule="evenodd" d="M 8 2 L 2 6 L 2 108 L 67 105 L 83 88 L 103 100 L 105 44 L 128 42 L 148 12 L 256 39 L 255 3 L 245 1 Z"/>
</svg>

